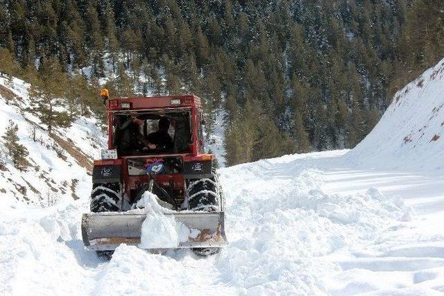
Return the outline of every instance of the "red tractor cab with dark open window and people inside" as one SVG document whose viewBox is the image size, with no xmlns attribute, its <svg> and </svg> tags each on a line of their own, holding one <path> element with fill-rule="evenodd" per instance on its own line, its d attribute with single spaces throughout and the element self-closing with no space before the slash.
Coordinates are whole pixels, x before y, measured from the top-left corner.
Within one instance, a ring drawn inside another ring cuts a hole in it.
<svg viewBox="0 0 444 296">
<path fill-rule="evenodd" d="M 148 136 L 168 121 L 173 145 L 151 148 Z M 203 153 L 203 114 L 196 96 L 117 98 L 108 103 L 108 146 L 120 156 Z M 132 138 L 133 137 L 133 138 Z M 136 141 L 135 141 L 136 140 Z"/>
</svg>

